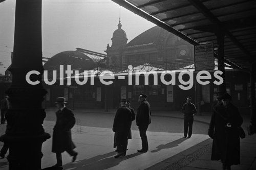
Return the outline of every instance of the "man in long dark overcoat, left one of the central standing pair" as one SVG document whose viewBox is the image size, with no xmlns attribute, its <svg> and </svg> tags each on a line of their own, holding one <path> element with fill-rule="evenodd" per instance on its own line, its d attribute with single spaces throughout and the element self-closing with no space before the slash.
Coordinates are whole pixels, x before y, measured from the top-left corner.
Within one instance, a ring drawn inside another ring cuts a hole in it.
<svg viewBox="0 0 256 170">
<path fill-rule="evenodd" d="M 114 123 L 113 132 L 115 132 L 115 143 L 117 147 L 117 155 L 114 158 L 126 155 L 127 142 L 130 130 L 131 111 L 125 106 L 126 99 L 121 99 L 121 107 L 117 109 Z"/>
</svg>

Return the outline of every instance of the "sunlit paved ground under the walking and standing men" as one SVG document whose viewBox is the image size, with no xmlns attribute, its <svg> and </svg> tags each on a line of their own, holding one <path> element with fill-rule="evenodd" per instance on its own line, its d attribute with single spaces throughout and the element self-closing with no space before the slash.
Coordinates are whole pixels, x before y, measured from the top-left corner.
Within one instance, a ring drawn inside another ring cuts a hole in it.
<svg viewBox="0 0 256 170">
<path fill-rule="evenodd" d="M 45 121 L 46 132 L 52 134 L 55 122 Z M 115 159 L 113 148 L 114 133 L 109 128 L 77 126 L 72 129 L 72 137 L 79 155 L 77 161 L 70 163 L 72 157 L 62 154 L 65 169 L 145 169 L 172 157 L 194 145 L 208 139 L 207 135 L 194 134 L 191 138 L 183 138 L 181 133 L 148 132 L 150 151 L 137 153 L 141 149 L 141 139 L 138 131 L 132 131 L 133 139 L 129 140 L 126 156 Z M 42 168 L 56 163 L 55 154 L 51 152 L 52 140 L 42 145 Z M 0 169 L 8 169 L 6 159 L 1 159 Z M 6 164 L 6 165 L 4 165 Z M 4 166 L 3 166 L 4 165 Z"/>
</svg>

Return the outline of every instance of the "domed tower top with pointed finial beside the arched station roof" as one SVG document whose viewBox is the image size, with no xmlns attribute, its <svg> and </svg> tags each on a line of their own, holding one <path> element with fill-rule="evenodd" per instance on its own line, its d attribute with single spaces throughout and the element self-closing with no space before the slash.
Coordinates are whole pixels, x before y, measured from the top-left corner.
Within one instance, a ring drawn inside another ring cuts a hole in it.
<svg viewBox="0 0 256 170">
<path fill-rule="evenodd" d="M 121 21 L 119 20 L 119 23 L 117 25 L 118 29 L 114 31 L 113 37 L 111 38 L 112 40 L 112 45 L 111 48 L 119 48 L 126 46 L 127 43 L 127 38 L 126 38 L 126 33 L 124 30 L 122 30 L 122 24 Z"/>
</svg>

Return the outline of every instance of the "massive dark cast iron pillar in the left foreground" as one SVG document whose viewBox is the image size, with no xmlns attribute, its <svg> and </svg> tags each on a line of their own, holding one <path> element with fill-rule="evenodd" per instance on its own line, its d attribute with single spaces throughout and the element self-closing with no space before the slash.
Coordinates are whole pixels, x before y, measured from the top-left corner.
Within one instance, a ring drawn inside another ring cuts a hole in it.
<svg viewBox="0 0 256 170">
<path fill-rule="evenodd" d="M 6 114 L 6 132 L 0 137 L 8 145 L 11 170 L 41 169 L 42 142 L 50 138 L 42 127 L 46 112 L 41 105 L 47 91 L 41 84 L 41 46 L 41 0 L 16 1 L 12 84 L 6 92 L 11 107 Z M 41 73 L 31 77 L 37 85 L 26 81 L 31 70 Z"/>
</svg>

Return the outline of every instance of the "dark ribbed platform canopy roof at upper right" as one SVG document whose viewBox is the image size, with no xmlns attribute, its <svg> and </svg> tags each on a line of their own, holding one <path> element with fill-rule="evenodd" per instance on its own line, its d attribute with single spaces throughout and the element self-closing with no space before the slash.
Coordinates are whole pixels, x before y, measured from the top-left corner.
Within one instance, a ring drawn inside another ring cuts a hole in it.
<svg viewBox="0 0 256 170">
<path fill-rule="evenodd" d="M 214 43 L 225 35 L 225 62 L 248 69 L 256 61 L 256 1 L 112 0 L 193 45 Z"/>
</svg>

